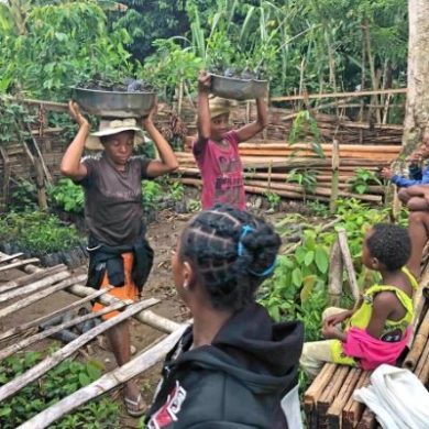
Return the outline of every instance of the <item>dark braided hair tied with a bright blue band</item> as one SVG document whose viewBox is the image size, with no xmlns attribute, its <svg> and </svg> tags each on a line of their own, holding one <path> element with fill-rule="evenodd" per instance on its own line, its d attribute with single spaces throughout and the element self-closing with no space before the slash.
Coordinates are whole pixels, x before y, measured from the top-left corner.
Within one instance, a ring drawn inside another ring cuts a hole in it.
<svg viewBox="0 0 429 429">
<path fill-rule="evenodd" d="M 240 310 L 273 272 L 280 238 L 270 223 L 230 206 L 201 211 L 180 239 L 182 261 L 216 309 Z"/>
</svg>

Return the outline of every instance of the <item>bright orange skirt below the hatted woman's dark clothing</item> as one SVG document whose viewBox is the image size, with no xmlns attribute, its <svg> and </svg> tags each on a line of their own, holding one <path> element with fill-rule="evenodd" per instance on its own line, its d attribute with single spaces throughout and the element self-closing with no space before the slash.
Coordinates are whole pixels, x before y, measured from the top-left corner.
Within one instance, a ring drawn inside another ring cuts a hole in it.
<svg viewBox="0 0 429 429">
<path fill-rule="evenodd" d="M 134 255 L 132 252 L 129 253 L 122 253 L 122 260 L 123 260 L 123 275 L 124 275 L 124 285 L 123 286 L 118 286 L 114 287 L 113 289 L 110 289 L 108 292 L 108 295 L 112 295 L 117 298 L 120 299 L 131 299 L 133 301 L 136 301 L 139 298 L 139 289 L 134 285 L 131 272 L 133 267 L 133 262 L 134 262 Z M 108 274 L 105 273 L 105 276 L 102 278 L 100 288 L 106 289 L 109 286 L 109 277 Z M 92 311 L 100 311 L 103 309 L 106 306 L 102 304 L 96 302 L 92 306 Z M 103 320 L 111 319 L 114 316 L 118 316 L 120 311 L 112 311 L 108 312 L 107 315 L 101 316 Z"/>
</svg>

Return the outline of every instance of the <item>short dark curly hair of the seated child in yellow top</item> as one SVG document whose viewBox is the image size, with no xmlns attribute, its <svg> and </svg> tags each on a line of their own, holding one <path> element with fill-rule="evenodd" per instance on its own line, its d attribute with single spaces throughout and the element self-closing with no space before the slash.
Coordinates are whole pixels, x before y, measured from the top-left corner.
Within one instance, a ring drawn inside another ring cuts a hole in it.
<svg viewBox="0 0 429 429">
<path fill-rule="evenodd" d="M 411 254 L 411 240 L 407 229 L 394 223 L 376 223 L 366 240 L 371 256 L 376 257 L 388 271 L 400 270 Z"/>
</svg>

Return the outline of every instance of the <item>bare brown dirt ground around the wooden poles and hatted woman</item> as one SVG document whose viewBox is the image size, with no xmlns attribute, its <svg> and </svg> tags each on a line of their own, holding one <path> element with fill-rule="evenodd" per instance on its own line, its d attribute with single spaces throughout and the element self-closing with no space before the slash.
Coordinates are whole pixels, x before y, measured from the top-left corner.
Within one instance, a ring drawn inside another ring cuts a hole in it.
<svg viewBox="0 0 429 429">
<path fill-rule="evenodd" d="M 284 215 L 276 213 L 271 215 L 270 218 L 273 222 L 275 222 L 275 220 L 282 218 L 282 216 Z M 155 251 L 155 260 L 152 273 L 143 290 L 143 298 L 155 297 L 160 299 L 160 304 L 152 307 L 152 310 L 161 316 L 167 317 L 168 319 L 173 319 L 178 322 L 189 319 L 190 314 L 177 298 L 176 290 L 173 285 L 170 258 L 172 251 L 175 249 L 177 242 L 177 238 L 190 218 L 191 215 L 173 215 L 169 211 L 163 211 L 158 215 L 157 220 L 151 223 L 147 228 L 147 239 Z M 79 267 L 76 272 L 85 273 L 86 266 Z M 9 280 L 22 274 L 23 273 L 19 271 L 0 273 L 0 285 L 2 282 Z M 48 298 L 45 298 L 23 310 L 18 311 L 12 317 L 8 318 L 8 320 L 1 320 L 0 330 L 6 330 L 11 327 L 19 326 L 24 321 L 29 321 L 31 319 L 52 312 L 55 309 L 64 307 L 76 299 L 78 298 L 72 296 L 70 294 L 64 292 L 56 293 Z M 135 346 L 138 353 L 162 336 L 160 331 L 143 326 L 135 320 L 132 320 L 131 334 L 132 344 Z M 46 351 L 47 348 L 52 345 L 53 341 L 54 340 L 41 341 L 37 344 L 31 346 L 29 350 Z M 97 341 L 92 341 L 89 345 L 84 348 L 84 350 L 78 353 L 77 358 L 96 359 L 103 363 L 106 371 L 110 371 L 116 367 L 116 361 L 112 353 L 106 349 L 106 341 L 103 341 L 103 339 L 97 339 Z M 147 404 L 151 403 L 153 393 L 158 383 L 160 371 L 161 363 L 139 376 L 139 384 Z M 120 392 L 113 392 L 112 396 L 119 400 L 122 407 Z M 139 419 L 129 417 L 122 407 L 121 427 L 136 428 L 138 425 Z"/>
</svg>

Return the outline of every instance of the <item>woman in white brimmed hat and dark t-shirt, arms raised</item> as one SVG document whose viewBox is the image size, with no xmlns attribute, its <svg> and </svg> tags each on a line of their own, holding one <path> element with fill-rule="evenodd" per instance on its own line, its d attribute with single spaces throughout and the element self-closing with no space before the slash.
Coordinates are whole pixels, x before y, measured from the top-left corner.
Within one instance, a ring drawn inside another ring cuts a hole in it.
<svg viewBox="0 0 429 429">
<path fill-rule="evenodd" d="M 141 180 L 154 178 L 178 167 L 169 144 L 155 128 L 151 113 L 141 124 L 154 141 L 161 160 L 132 156 L 135 144 L 144 141 L 135 119 L 100 122 L 100 130 L 89 133 L 89 123 L 75 102 L 72 117 L 79 131 L 68 146 L 62 164 L 63 175 L 84 187 L 85 219 L 89 229 L 88 286 L 114 286 L 110 295 L 138 299 L 148 276 L 153 251 L 145 240 L 142 222 Z M 97 156 L 81 158 L 84 148 L 101 150 Z M 95 305 L 95 310 L 100 308 Z M 117 312 L 103 316 L 114 317 Z M 107 333 L 119 365 L 130 360 L 130 323 L 122 322 Z M 144 402 L 138 385 L 130 381 L 124 392 L 128 413 L 140 416 Z"/>
</svg>

